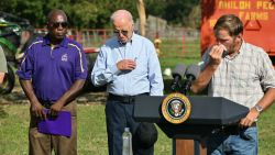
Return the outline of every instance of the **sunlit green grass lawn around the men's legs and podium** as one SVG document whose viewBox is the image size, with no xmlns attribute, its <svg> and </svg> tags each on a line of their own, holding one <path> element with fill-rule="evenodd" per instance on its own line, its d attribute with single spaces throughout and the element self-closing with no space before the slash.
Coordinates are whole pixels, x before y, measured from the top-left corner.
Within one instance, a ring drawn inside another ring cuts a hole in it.
<svg viewBox="0 0 275 155">
<path fill-rule="evenodd" d="M 260 155 L 275 154 L 275 107 L 261 115 Z M 0 107 L 0 154 L 26 155 L 29 106 L 10 104 Z M 107 155 L 105 106 L 78 104 L 78 154 Z M 158 130 L 155 155 L 170 155 L 172 140 Z"/>
</svg>

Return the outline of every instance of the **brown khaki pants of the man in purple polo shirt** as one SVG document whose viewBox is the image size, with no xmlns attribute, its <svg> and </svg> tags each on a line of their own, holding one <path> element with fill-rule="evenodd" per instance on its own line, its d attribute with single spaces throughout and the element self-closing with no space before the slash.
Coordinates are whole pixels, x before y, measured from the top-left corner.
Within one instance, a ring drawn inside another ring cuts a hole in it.
<svg viewBox="0 0 275 155">
<path fill-rule="evenodd" d="M 77 155 L 77 107 L 73 101 L 65 106 L 63 110 L 70 111 L 72 114 L 72 136 L 61 136 L 43 134 L 37 131 L 37 119 L 31 114 L 29 129 L 29 154 L 30 155 L 52 155 L 52 150 L 56 155 Z"/>
</svg>

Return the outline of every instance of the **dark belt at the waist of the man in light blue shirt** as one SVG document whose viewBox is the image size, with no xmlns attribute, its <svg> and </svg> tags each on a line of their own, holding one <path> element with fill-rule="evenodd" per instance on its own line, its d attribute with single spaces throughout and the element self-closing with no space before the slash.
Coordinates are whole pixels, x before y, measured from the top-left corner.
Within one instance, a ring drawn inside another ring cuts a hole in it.
<svg viewBox="0 0 275 155">
<path fill-rule="evenodd" d="M 135 101 L 135 97 L 140 97 L 140 96 L 148 96 L 148 92 L 140 93 L 136 96 L 117 96 L 113 93 L 109 93 L 108 100 L 120 101 L 122 103 L 133 103 Z"/>
</svg>

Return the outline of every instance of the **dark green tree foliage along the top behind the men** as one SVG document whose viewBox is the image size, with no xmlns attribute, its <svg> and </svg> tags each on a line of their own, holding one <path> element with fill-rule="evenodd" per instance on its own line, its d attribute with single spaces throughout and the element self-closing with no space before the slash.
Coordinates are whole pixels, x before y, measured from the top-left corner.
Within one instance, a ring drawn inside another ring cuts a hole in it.
<svg viewBox="0 0 275 155">
<path fill-rule="evenodd" d="M 199 10 L 193 11 L 194 7 L 199 8 L 199 0 L 144 0 L 144 3 L 146 14 L 163 18 L 169 24 L 194 26 L 189 15 L 200 16 Z M 0 5 L 0 11 L 28 19 L 35 27 L 45 25 L 46 14 L 52 9 L 63 9 L 72 27 L 110 27 L 109 18 L 118 9 L 127 9 L 134 19 L 139 18 L 136 0 L 1 0 Z"/>
</svg>

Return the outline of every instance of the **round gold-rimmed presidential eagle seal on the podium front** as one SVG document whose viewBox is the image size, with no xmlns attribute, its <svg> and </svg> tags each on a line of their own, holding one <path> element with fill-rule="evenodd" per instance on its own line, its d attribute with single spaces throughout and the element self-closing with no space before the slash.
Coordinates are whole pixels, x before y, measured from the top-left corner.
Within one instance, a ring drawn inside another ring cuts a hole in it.
<svg viewBox="0 0 275 155">
<path fill-rule="evenodd" d="M 162 113 L 164 118 L 173 123 L 179 124 L 185 122 L 191 112 L 191 104 L 183 93 L 170 93 L 164 98 L 162 103 Z"/>
</svg>

